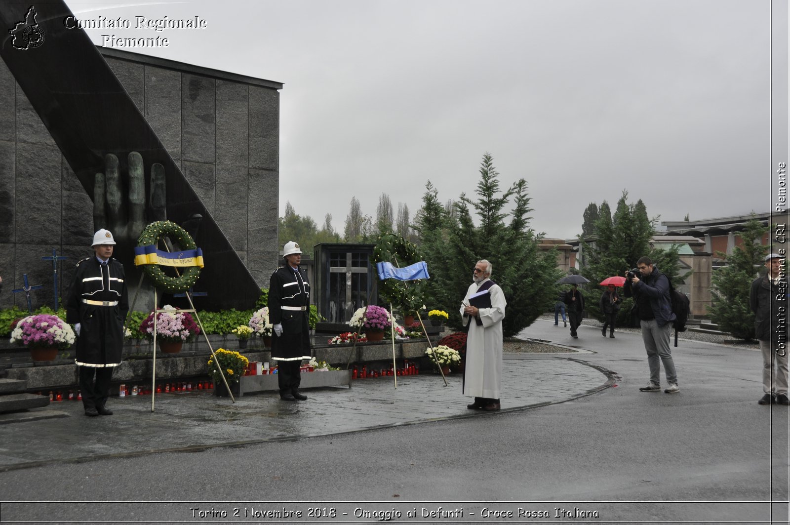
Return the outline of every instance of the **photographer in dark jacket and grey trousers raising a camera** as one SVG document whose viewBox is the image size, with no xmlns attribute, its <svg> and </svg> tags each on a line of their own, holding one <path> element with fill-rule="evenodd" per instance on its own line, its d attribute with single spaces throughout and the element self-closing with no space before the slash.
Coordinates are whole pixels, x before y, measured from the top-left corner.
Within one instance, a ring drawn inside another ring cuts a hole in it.
<svg viewBox="0 0 790 525">
<path fill-rule="evenodd" d="M 641 257 L 637 261 L 637 267 L 626 277 L 624 294 L 626 297 L 634 297 L 634 309 L 640 319 L 642 341 L 645 342 L 647 363 L 650 367 L 650 382 L 639 390 L 642 392 L 661 390 L 660 360 L 664 364 L 664 375 L 669 383 L 664 392 L 676 394 L 680 388 L 675 362 L 672 361 L 672 353 L 669 350 L 669 335 L 672 321 L 675 320 L 669 298 L 669 279 L 653 266 L 653 261 L 649 257 Z"/>
</svg>

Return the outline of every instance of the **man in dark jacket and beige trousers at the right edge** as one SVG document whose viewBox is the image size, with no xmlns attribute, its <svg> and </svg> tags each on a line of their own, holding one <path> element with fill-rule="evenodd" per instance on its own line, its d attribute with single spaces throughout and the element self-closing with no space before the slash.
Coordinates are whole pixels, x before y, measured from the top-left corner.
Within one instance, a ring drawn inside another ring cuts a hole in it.
<svg viewBox="0 0 790 525">
<path fill-rule="evenodd" d="M 784 255 L 766 256 L 768 273 L 754 279 L 749 293 L 749 307 L 754 312 L 754 337 L 760 342 L 762 352 L 762 391 L 765 395 L 758 401 L 761 405 L 790 405 L 787 355 L 790 305 L 782 266 Z"/>
</svg>

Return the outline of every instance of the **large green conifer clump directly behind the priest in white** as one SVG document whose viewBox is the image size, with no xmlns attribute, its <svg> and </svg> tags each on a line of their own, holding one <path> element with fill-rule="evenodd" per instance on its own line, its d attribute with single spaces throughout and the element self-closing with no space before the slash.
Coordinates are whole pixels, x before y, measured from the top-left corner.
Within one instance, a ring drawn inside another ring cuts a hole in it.
<svg viewBox="0 0 790 525">
<path fill-rule="evenodd" d="M 511 198 L 513 211 L 508 213 Z M 447 219 L 437 192 L 427 187 L 418 213 L 420 240 L 431 274 L 427 296 L 437 303 L 430 308 L 450 313 L 451 326 L 461 325 L 459 303 L 472 282 L 472 268 L 480 259 L 491 261 L 491 278 L 505 294 L 506 337 L 518 334 L 554 304 L 554 282 L 560 277 L 557 255 L 555 251 L 540 251 L 543 233 L 529 228 L 529 200 L 525 179 L 506 191 L 500 189 L 499 173 L 488 153 L 480 163 L 475 197 L 461 194 L 454 202 L 455 221 Z"/>
</svg>

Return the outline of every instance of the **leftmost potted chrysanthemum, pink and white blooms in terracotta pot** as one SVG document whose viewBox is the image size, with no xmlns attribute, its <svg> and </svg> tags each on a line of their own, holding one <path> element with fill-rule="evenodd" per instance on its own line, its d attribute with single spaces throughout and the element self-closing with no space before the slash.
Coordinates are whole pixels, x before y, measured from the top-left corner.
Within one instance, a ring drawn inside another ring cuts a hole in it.
<svg viewBox="0 0 790 525">
<path fill-rule="evenodd" d="M 57 315 L 28 315 L 11 330 L 11 342 L 26 346 L 33 361 L 52 361 L 74 344 L 74 330 Z"/>
</svg>

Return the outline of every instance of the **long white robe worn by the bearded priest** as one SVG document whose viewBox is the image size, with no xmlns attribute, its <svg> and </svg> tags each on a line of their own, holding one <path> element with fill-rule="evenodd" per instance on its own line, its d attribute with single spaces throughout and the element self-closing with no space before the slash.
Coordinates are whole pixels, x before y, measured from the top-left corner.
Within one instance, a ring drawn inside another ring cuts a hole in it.
<svg viewBox="0 0 790 525">
<path fill-rule="evenodd" d="M 486 281 L 488 279 L 469 286 L 464 297 L 465 304 L 469 304 L 469 296 L 477 293 Z M 464 316 L 464 306 L 461 306 L 461 319 L 465 325 L 469 325 L 464 395 L 498 399 L 502 383 L 502 319 L 505 319 L 507 301 L 498 285 L 492 285 L 488 293 L 491 294 L 491 308 L 480 308 L 482 325 L 476 323 L 473 315 Z"/>
</svg>

